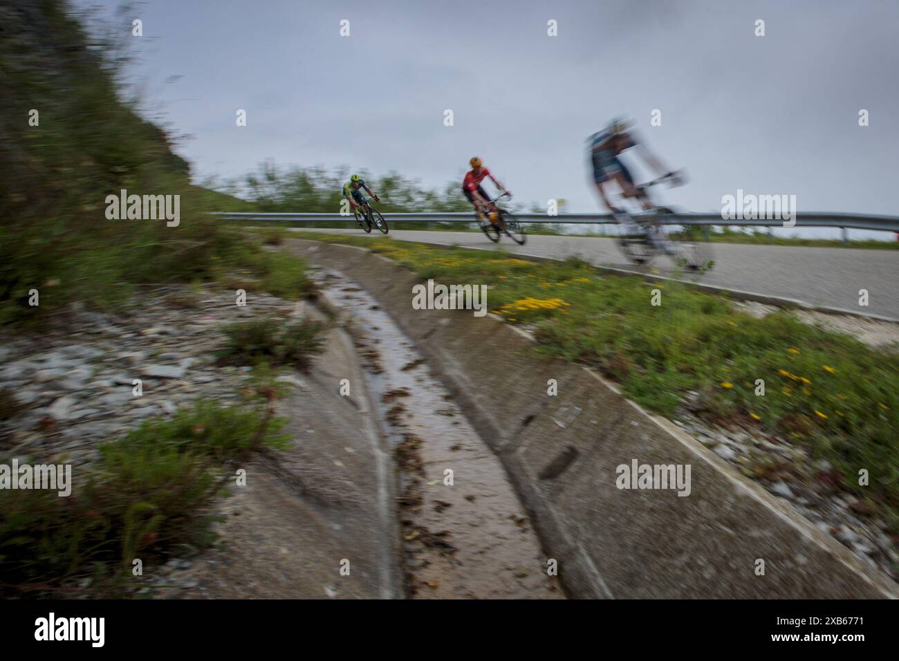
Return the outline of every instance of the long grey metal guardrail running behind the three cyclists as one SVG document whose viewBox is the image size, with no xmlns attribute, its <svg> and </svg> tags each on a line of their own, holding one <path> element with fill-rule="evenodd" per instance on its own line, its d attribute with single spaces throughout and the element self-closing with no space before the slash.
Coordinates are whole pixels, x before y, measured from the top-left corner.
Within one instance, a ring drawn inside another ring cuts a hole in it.
<svg viewBox="0 0 899 661">
<path fill-rule="evenodd" d="M 339 213 L 254 213 L 254 212 L 217 212 L 213 213 L 223 220 L 244 222 L 346 222 L 355 224 L 356 220 Z M 388 222 L 456 222 L 473 223 L 471 213 L 385 213 Z M 516 213 L 515 218 L 526 223 L 563 223 L 615 225 L 618 223 L 610 213 L 565 213 L 558 216 L 547 216 L 545 213 Z M 767 228 L 841 228 L 875 229 L 885 232 L 899 232 L 899 216 L 870 216 L 858 213 L 797 213 L 793 219 L 795 224 L 786 225 L 780 219 L 723 219 L 720 213 L 674 213 L 660 218 L 665 225 L 698 225 L 698 226 L 738 226 Z"/>
</svg>

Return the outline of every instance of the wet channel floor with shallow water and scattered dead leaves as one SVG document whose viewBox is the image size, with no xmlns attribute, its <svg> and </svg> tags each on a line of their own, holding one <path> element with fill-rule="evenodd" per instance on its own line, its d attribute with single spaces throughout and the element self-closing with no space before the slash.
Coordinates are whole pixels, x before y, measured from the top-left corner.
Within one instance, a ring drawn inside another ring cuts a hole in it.
<svg viewBox="0 0 899 661">
<path fill-rule="evenodd" d="M 315 277 L 356 345 L 396 462 L 406 596 L 564 597 L 500 460 L 411 341 L 340 272 Z"/>
</svg>

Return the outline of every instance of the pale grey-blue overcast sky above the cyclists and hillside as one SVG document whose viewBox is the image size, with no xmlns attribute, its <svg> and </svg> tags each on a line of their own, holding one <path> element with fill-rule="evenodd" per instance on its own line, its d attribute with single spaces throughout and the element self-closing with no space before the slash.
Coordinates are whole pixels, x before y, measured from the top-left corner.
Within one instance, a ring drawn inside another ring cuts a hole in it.
<svg viewBox="0 0 899 661">
<path fill-rule="evenodd" d="M 686 168 L 674 205 L 720 210 L 742 188 L 795 194 L 800 213 L 899 213 L 895 0 L 149 0 L 134 15 L 134 73 L 191 134 L 179 148 L 200 178 L 273 159 L 442 188 L 478 155 L 517 201 L 593 211 L 584 140 L 627 113 Z"/>
</svg>

